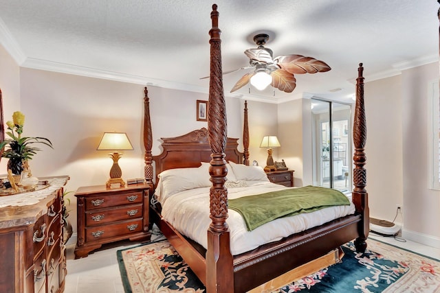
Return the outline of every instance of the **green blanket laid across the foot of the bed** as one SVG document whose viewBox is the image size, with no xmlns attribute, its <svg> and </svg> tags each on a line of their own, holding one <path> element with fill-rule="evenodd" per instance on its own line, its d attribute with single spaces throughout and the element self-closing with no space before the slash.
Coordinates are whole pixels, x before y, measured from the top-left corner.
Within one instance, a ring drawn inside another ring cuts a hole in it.
<svg viewBox="0 0 440 293">
<path fill-rule="evenodd" d="M 243 216 L 248 231 L 277 218 L 348 204 L 350 201 L 342 192 L 315 186 L 283 189 L 228 200 L 228 208 Z"/>
</svg>

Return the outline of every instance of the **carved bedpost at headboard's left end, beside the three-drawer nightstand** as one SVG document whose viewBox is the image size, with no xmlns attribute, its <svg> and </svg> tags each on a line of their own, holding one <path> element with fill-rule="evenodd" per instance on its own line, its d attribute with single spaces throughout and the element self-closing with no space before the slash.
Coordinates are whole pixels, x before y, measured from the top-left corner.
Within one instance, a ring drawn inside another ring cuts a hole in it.
<svg viewBox="0 0 440 293">
<path fill-rule="evenodd" d="M 146 86 L 144 87 L 144 147 L 144 176 L 146 184 L 150 184 L 153 187 L 153 156 L 151 156 L 153 134 L 151 131 L 150 99 L 148 98 L 148 90 L 146 89 Z"/>
</svg>

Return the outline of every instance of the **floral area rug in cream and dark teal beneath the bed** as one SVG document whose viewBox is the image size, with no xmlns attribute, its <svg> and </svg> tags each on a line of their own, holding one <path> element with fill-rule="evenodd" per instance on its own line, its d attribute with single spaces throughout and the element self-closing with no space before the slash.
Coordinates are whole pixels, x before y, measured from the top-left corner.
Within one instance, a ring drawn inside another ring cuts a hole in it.
<svg viewBox="0 0 440 293">
<path fill-rule="evenodd" d="M 272 292 L 440 292 L 440 261 L 373 239 L 366 253 L 342 246 L 342 262 Z M 206 292 L 166 240 L 118 250 L 126 293 Z"/>
</svg>

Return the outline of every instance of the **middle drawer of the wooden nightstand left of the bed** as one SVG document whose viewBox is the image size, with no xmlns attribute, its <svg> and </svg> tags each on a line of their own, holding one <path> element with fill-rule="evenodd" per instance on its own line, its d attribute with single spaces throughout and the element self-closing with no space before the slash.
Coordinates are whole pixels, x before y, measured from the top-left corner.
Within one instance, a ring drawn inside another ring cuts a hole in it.
<svg viewBox="0 0 440 293">
<path fill-rule="evenodd" d="M 85 213 L 85 225 L 96 226 L 120 220 L 142 218 L 143 206 L 141 203 L 127 204 L 118 208 L 93 209 Z"/>
</svg>

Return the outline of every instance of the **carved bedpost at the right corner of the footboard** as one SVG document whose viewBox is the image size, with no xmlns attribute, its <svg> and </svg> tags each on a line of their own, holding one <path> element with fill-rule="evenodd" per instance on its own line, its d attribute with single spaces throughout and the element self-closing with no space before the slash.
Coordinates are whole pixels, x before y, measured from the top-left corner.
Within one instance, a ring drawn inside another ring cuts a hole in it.
<svg viewBox="0 0 440 293">
<path fill-rule="evenodd" d="M 366 156 L 364 152 L 366 142 L 366 119 L 364 106 L 364 78 L 362 73 L 364 67 L 360 63 L 358 68 L 358 78 L 356 79 L 356 106 L 355 106 L 355 120 L 353 125 L 353 143 L 355 145 L 355 154 L 353 155 L 353 203 L 356 207 L 356 212 L 360 213 L 362 220 L 359 223 L 359 235 L 355 239 L 356 251 L 364 253 L 366 249 L 366 237 L 369 235 L 369 195 L 365 190 L 366 186 L 366 169 L 364 165 Z"/>
</svg>

